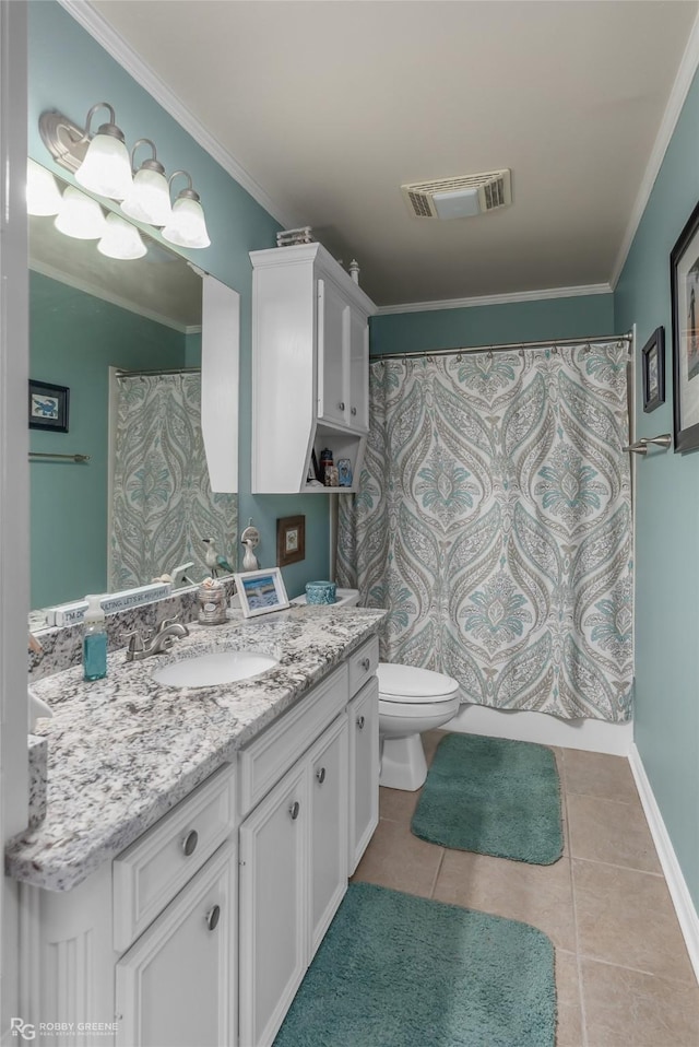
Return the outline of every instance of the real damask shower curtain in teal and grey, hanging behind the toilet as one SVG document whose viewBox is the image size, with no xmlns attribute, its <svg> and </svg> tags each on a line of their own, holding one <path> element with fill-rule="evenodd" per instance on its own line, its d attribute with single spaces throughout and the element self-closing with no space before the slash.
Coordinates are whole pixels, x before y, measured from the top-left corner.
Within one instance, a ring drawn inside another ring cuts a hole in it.
<svg viewBox="0 0 699 1047">
<path fill-rule="evenodd" d="M 464 702 L 630 716 L 626 342 L 377 361 L 337 575 Z"/>
</svg>

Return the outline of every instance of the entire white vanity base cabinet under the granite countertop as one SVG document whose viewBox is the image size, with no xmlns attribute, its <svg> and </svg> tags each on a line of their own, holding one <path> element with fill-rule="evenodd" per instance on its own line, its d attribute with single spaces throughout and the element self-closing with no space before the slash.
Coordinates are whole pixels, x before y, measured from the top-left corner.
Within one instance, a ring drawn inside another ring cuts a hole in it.
<svg viewBox="0 0 699 1047">
<path fill-rule="evenodd" d="M 376 825 L 377 662 L 371 638 L 80 886 L 21 884 L 46 1047 L 71 1022 L 104 1047 L 272 1043 Z"/>
</svg>

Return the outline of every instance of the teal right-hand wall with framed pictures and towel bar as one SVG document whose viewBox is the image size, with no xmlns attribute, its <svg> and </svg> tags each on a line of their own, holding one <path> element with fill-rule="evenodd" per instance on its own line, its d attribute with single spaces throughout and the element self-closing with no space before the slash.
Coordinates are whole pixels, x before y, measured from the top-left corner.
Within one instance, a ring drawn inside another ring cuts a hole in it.
<svg viewBox="0 0 699 1047">
<path fill-rule="evenodd" d="M 617 327 L 637 325 L 637 436 L 673 432 L 670 254 L 699 198 L 699 78 L 615 293 Z M 642 410 L 640 353 L 665 328 L 665 403 Z M 636 744 L 685 881 L 699 908 L 699 454 L 638 462 Z"/>
</svg>

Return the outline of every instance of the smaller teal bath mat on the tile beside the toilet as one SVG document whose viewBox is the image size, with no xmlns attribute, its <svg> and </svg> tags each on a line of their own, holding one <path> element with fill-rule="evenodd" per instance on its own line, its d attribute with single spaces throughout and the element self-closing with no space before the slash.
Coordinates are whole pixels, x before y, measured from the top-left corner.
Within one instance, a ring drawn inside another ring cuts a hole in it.
<svg viewBox="0 0 699 1047">
<path fill-rule="evenodd" d="M 550 866 L 564 850 L 556 756 L 532 742 L 448 734 L 411 828 L 453 850 Z"/>
</svg>

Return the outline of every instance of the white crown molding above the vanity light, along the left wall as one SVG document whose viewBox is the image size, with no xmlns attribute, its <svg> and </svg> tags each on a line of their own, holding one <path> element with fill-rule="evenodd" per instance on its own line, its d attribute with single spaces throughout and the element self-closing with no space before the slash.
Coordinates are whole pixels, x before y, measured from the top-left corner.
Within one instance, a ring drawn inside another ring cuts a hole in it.
<svg viewBox="0 0 699 1047">
<path fill-rule="evenodd" d="M 240 166 L 235 156 L 224 149 L 187 106 L 182 105 L 165 81 L 153 72 L 138 51 L 134 51 L 111 28 L 87 0 L 58 0 L 58 2 L 273 219 L 284 228 L 294 228 L 300 224 L 297 215 L 286 214 L 268 196 L 254 178 Z"/>
</svg>

